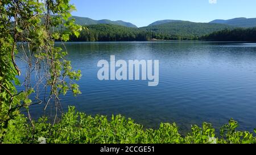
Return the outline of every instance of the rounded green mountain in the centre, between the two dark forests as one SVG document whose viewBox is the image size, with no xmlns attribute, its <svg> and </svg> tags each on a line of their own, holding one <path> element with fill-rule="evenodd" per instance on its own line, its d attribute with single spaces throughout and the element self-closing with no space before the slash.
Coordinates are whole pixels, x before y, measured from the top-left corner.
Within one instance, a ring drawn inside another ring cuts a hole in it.
<svg viewBox="0 0 256 155">
<path fill-rule="evenodd" d="M 168 34 L 179 37 L 199 37 L 207 35 L 214 31 L 222 29 L 233 29 L 234 27 L 226 24 L 216 23 L 194 23 L 191 21 L 171 21 L 158 25 L 150 25 L 148 27 L 139 28 L 143 31 L 150 31 L 155 33 Z"/>
</svg>

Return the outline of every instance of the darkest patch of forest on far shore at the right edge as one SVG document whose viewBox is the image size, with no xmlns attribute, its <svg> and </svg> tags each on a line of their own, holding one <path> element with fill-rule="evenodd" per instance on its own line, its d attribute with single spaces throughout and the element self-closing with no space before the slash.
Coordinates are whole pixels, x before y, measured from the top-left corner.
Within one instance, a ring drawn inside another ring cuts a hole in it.
<svg viewBox="0 0 256 155">
<path fill-rule="evenodd" d="M 205 35 L 200 40 L 208 41 L 256 41 L 255 28 L 224 29 Z"/>
</svg>

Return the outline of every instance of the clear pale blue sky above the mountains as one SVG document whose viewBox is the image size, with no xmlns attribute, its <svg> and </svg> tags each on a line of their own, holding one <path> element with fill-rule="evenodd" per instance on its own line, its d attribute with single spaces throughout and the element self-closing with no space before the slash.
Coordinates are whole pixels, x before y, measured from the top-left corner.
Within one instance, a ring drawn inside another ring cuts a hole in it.
<svg viewBox="0 0 256 155">
<path fill-rule="evenodd" d="M 256 18 L 256 0 L 71 0 L 74 16 L 123 20 L 144 27 L 157 20 L 209 22 Z"/>
</svg>

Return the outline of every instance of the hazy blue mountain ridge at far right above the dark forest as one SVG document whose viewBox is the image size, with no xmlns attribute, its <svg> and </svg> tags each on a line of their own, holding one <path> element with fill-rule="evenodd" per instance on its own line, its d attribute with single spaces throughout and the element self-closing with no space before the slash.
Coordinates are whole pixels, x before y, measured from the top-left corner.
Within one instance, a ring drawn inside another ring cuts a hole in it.
<svg viewBox="0 0 256 155">
<path fill-rule="evenodd" d="M 234 18 L 229 20 L 217 19 L 210 21 L 209 23 L 227 24 L 234 27 L 256 27 L 256 18 Z"/>
</svg>

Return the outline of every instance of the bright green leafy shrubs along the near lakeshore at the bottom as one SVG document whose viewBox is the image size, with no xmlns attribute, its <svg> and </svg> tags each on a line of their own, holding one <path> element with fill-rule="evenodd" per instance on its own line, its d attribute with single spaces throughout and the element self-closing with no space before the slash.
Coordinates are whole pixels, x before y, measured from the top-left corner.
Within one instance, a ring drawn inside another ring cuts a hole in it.
<svg viewBox="0 0 256 155">
<path fill-rule="evenodd" d="M 60 122 L 51 124 L 47 118 L 34 122 L 34 127 L 22 115 L 8 123 L 1 143 L 100 143 L 100 144 L 256 144 L 256 137 L 247 131 L 237 131 L 238 123 L 229 120 L 216 137 L 210 123 L 192 126 L 187 135 L 179 134 L 175 123 L 161 123 L 157 130 L 145 129 L 121 115 L 111 118 L 102 115 L 91 117 L 69 107 Z M 256 132 L 255 132 L 256 133 Z"/>
</svg>

